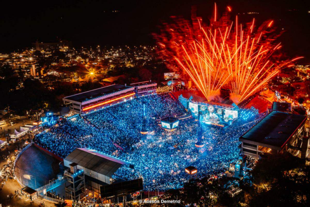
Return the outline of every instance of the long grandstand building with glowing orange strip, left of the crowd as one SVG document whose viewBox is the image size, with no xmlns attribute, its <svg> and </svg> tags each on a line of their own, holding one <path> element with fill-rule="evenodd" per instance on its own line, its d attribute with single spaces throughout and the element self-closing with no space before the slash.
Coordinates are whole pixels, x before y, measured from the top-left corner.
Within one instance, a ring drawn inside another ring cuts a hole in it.
<svg viewBox="0 0 310 207">
<path fill-rule="evenodd" d="M 110 85 L 91 91 L 78 93 L 63 98 L 64 104 L 70 106 L 70 111 L 86 114 L 135 96 L 134 87 L 125 85 Z"/>
</svg>

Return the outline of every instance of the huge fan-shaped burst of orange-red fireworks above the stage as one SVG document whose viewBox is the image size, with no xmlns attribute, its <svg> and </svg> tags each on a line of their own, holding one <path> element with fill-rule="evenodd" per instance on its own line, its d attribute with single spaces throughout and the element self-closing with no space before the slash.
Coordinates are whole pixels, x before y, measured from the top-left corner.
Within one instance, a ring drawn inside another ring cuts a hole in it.
<svg viewBox="0 0 310 207">
<path fill-rule="evenodd" d="M 217 17 L 216 4 L 210 24 L 192 14 L 192 23 L 174 18 L 160 35 L 155 35 L 159 54 L 173 70 L 185 71 L 208 101 L 223 86 L 230 88 L 231 99 L 240 103 L 257 92 L 281 68 L 292 61 L 280 61 L 280 34 L 272 29 L 273 20 L 255 29 L 255 19 L 239 24 L 229 19 L 231 7 Z"/>
</svg>

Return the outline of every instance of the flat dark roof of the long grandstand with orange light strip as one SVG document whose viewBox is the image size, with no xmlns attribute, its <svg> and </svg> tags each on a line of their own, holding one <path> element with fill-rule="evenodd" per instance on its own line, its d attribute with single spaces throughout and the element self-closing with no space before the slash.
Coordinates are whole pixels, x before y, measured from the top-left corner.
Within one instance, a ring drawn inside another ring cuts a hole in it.
<svg viewBox="0 0 310 207">
<path fill-rule="evenodd" d="M 88 101 L 100 96 L 108 95 L 114 92 L 119 92 L 128 88 L 132 88 L 131 86 L 123 86 L 123 85 L 110 85 L 102 88 L 97 88 L 91 91 L 86 91 L 82 93 L 78 93 L 72 96 L 67 96 L 64 97 L 65 99 L 69 99 L 72 101 L 78 101 L 78 102 L 83 102 L 83 101 Z"/>
</svg>

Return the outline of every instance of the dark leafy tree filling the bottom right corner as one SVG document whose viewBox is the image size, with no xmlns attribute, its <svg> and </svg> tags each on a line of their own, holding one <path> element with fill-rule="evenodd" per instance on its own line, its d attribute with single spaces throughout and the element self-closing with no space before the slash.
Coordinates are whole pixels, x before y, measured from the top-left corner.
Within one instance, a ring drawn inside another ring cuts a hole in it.
<svg viewBox="0 0 310 207">
<path fill-rule="evenodd" d="M 309 206 L 310 170 L 293 155 L 270 155 L 252 171 L 249 206 Z"/>
</svg>

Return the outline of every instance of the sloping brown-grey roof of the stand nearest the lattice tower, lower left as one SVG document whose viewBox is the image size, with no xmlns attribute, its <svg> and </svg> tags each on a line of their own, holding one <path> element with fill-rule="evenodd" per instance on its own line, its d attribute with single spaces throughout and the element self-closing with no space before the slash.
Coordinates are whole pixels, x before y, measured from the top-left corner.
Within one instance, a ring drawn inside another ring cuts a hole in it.
<svg viewBox="0 0 310 207">
<path fill-rule="evenodd" d="M 108 155 L 104 155 L 88 148 L 77 148 L 71 152 L 64 160 L 70 163 L 90 169 L 96 173 L 110 177 L 121 165 L 128 164 Z"/>
</svg>

